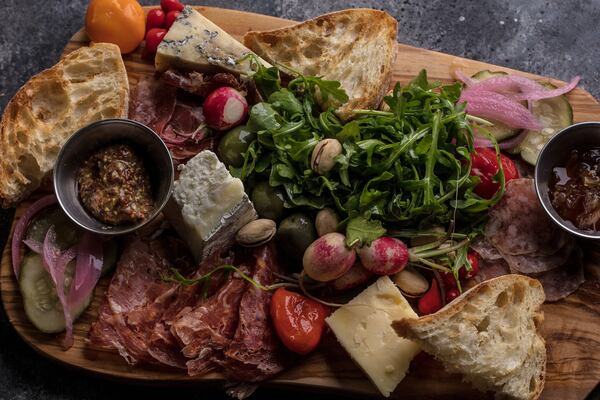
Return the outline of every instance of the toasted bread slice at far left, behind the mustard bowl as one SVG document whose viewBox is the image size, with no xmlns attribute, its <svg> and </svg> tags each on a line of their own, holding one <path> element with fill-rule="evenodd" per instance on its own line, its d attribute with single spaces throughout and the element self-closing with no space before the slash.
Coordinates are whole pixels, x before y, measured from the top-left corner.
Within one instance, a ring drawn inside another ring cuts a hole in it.
<svg viewBox="0 0 600 400">
<path fill-rule="evenodd" d="M 63 143 L 94 121 L 127 117 L 129 83 L 119 47 L 96 43 L 32 77 L 0 121 L 0 201 L 27 197 L 54 167 Z"/>
</svg>

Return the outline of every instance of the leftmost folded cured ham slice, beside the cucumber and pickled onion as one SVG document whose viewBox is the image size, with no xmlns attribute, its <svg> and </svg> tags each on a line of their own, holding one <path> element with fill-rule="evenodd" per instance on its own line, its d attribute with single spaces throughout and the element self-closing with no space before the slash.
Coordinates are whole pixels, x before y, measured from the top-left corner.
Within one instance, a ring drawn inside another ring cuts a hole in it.
<svg viewBox="0 0 600 400">
<path fill-rule="evenodd" d="M 170 257 L 178 260 L 179 266 L 190 265 L 189 256 L 181 254 L 177 241 L 136 239 L 129 243 L 90 330 L 91 344 L 116 349 L 132 365 L 156 364 L 163 358 L 164 354 L 157 359 L 149 351 L 151 335 L 165 310 L 172 310 L 186 298 L 181 293 L 186 288 L 161 280 L 173 266 Z M 183 367 L 182 362 L 177 362 L 176 353 L 164 359 L 171 360 L 168 365 Z"/>
</svg>

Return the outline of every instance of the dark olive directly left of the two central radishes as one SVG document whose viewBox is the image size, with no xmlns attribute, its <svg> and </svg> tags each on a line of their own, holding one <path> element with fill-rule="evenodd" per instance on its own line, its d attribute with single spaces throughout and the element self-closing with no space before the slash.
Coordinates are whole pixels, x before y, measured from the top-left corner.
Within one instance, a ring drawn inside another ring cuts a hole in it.
<svg viewBox="0 0 600 400">
<path fill-rule="evenodd" d="M 286 217 L 279 224 L 275 240 L 292 270 L 302 269 L 302 257 L 306 248 L 317 239 L 317 230 L 313 219 L 303 213 Z"/>
</svg>

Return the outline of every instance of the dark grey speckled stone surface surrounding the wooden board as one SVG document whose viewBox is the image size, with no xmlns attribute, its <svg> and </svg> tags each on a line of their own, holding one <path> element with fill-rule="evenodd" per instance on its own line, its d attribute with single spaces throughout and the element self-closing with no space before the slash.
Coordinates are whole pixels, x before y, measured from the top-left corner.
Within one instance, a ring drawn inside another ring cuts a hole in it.
<svg viewBox="0 0 600 400">
<path fill-rule="evenodd" d="M 142 1 L 146 5 L 158 0 Z M 237 0 L 188 1 L 302 20 L 350 7 L 385 10 L 399 21 L 398 40 L 568 80 L 600 97 L 600 0 Z M 53 65 L 82 25 L 85 0 L 0 0 L 0 109 L 33 74 Z M 402 55 L 399 55 L 402 57 Z M 0 156 L 2 149 L 0 149 Z M 0 248 L 12 210 L 0 211 Z M 259 389 L 253 398 L 332 398 Z M 225 398 L 218 388 L 140 387 L 83 375 L 37 355 L 0 309 L 0 400 Z M 600 399 L 596 389 L 590 399 Z"/>
</svg>

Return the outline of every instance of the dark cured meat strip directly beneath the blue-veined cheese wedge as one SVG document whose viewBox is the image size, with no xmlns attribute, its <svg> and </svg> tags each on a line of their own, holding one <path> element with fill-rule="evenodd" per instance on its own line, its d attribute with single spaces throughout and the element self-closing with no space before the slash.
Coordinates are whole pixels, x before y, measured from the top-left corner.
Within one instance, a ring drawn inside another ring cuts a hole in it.
<svg viewBox="0 0 600 400">
<path fill-rule="evenodd" d="M 215 89 L 223 86 L 229 86 L 238 91 L 244 90 L 243 84 L 234 75 L 227 72 L 203 75 L 199 72 L 182 72 L 170 69 L 162 74 L 162 79 L 168 85 L 200 97 L 206 97 Z"/>
</svg>

